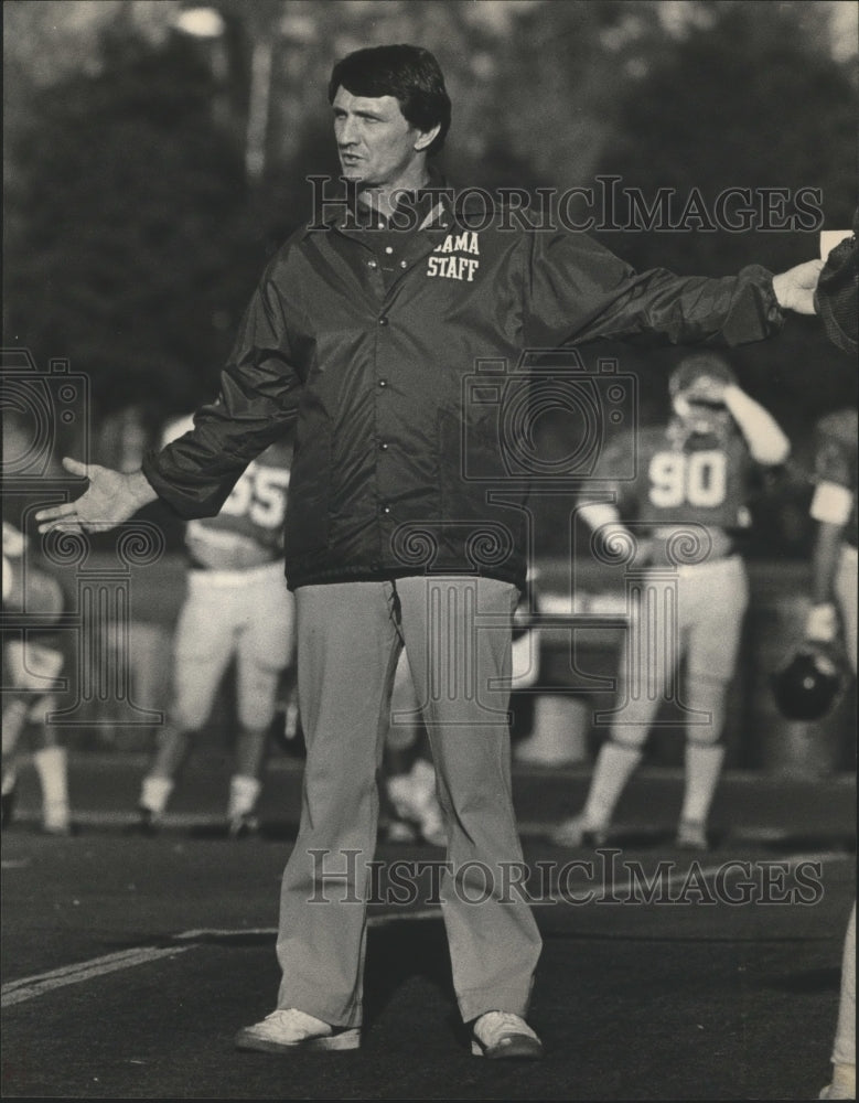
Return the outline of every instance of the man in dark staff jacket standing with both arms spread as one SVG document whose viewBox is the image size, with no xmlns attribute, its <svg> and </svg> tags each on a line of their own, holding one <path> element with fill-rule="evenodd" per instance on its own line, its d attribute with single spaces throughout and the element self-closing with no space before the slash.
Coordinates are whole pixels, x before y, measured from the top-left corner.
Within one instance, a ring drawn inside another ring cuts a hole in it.
<svg viewBox="0 0 859 1103">
<path fill-rule="evenodd" d="M 597 338 L 759 340 L 784 309 L 814 312 L 820 265 L 640 275 L 583 234 L 500 219 L 474 228 L 429 172 L 450 100 L 425 50 L 351 54 L 329 98 L 346 202 L 269 265 L 217 401 L 135 474 L 66 461 L 90 486 L 41 520 L 109 527 L 155 495 L 184 516 L 211 515 L 298 419 L 286 556 L 304 804 L 283 875 L 278 1009 L 237 1045 L 359 1045 L 376 771 L 405 645 L 447 820 L 440 895 L 472 1051 L 536 1058 L 524 1016 L 540 939 L 515 887 L 507 728 L 528 488 L 511 478 L 513 445 L 498 429 L 504 365 Z"/>
</svg>

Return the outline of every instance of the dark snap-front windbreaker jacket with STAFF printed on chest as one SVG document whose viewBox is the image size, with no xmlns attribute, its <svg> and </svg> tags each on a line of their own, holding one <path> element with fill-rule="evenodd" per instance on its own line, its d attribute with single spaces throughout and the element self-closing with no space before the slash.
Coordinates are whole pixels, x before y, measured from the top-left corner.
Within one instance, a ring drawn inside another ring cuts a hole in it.
<svg viewBox="0 0 859 1103">
<path fill-rule="evenodd" d="M 528 481 L 508 460 L 523 354 L 601 338 L 734 345 L 783 321 L 763 268 L 636 274 L 581 233 L 471 229 L 449 197 L 408 235 L 387 289 L 366 240 L 340 212 L 293 234 L 248 307 L 219 397 L 143 462 L 182 516 L 208 516 L 297 417 L 293 589 L 426 571 L 520 585 Z"/>
</svg>

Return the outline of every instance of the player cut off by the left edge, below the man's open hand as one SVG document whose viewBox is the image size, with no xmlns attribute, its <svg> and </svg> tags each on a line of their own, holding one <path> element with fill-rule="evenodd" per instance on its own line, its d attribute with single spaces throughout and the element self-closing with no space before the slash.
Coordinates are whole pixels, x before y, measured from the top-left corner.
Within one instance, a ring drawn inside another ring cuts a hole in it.
<svg viewBox="0 0 859 1103">
<path fill-rule="evenodd" d="M 34 738 L 33 765 L 42 790 L 42 828 L 50 835 L 68 835 L 66 749 L 49 722 L 56 708 L 52 688 L 65 664 L 57 634 L 50 625 L 63 612 L 65 598 L 57 580 L 42 565 L 24 559 L 26 538 L 3 522 L 3 611 L 37 613 L 39 631 L 7 633 L 3 642 L 2 823 L 13 815 L 21 739 L 28 729 Z"/>
</svg>

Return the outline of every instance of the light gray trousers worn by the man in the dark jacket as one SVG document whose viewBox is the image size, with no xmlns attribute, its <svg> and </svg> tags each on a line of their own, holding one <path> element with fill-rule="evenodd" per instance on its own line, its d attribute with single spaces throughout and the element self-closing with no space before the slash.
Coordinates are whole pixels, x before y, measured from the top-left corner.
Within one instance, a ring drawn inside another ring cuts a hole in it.
<svg viewBox="0 0 859 1103">
<path fill-rule="evenodd" d="M 448 825 L 440 882 L 464 1021 L 524 1015 L 541 943 L 515 884 L 507 706 L 518 591 L 473 577 L 305 586 L 297 591 L 299 706 L 307 742 L 301 826 L 283 872 L 278 1007 L 358 1026 L 367 863 L 390 692 L 405 645 Z"/>
</svg>

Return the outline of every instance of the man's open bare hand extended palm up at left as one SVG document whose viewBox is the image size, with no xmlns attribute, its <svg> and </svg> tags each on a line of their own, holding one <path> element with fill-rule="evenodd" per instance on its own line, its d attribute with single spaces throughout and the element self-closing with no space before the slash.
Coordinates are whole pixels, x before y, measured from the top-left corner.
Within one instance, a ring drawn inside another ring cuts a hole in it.
<svg viewBox="0 0 859 1103">
<path fill-rule="evenodd" d="M 40 510 L 39 532 L 105 532 L 116 527 L 158 496 L 141 471 L 122 473 L 97 463 L 64 459 L 69 474 L 89 480 L 89 486 L 74 502 Z"/>
</svg>

